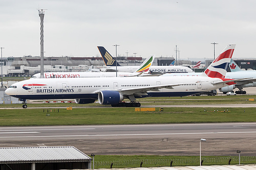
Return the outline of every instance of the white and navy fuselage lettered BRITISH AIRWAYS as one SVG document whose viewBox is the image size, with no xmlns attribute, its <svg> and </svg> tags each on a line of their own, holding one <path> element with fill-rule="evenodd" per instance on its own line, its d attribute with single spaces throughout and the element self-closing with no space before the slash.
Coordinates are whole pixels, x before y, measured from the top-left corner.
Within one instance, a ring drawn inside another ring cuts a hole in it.
<svg viewBox="0 0 256 170">
<path fill-rule="evenodd" d="M 118 91 L 127 98 L 146 96 L 186 96 L 226 86 L 209 77 L 117 77 L 29 79 L 14 83 L 6 94 L 22 100 L 95 99 L 102 90 Z M 178 86 L 177 86 L 178 84 Z M 162 86 L 172 86 L 163 88 Z M 176 85 L 176 86 L 174 86 Z"/>
</svg>

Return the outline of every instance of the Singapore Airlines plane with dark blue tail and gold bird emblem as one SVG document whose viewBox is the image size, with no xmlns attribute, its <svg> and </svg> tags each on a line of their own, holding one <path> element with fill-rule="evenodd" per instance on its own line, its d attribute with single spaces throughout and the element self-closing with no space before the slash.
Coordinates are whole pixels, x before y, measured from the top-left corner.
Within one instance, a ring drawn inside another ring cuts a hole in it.
<svg viewBox="0 0 256 170">
<path fill-rule="evenodd" d="M 136 69 L 138 69 L 138 66 L 121 66 L 112 56 L 111 54 L 106 51 L 106 49 L 103 46 L 98 46 L 99 52 L 101 54 L 101 57 L 104 60 L 104 63 L 107 68 L 101 68 L 101 71 L 109 71 L 109 70 L 116 70 L 117 65 L 117 71 L 122 72 L 134 72 Z M 177 66 L 177 65 L 168 65 L 168 66 L 155 66 L 152 65 L 150 67 L 150 72 L 194 72 L 191 68 L 185 67 L 185 66 Z"/>
</svg>

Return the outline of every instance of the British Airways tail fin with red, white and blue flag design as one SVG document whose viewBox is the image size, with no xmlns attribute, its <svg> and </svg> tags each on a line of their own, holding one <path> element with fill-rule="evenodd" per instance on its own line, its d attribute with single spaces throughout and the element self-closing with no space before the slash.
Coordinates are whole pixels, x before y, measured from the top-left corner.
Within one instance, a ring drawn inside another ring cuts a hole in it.
<svg viewBox="0 0 256 170">
<path fill-rule="evenodd" d="M 221 54 L 203 72 L 202 76 L 224 79 L 236 44 L 228 44 Z"/>
</svg>

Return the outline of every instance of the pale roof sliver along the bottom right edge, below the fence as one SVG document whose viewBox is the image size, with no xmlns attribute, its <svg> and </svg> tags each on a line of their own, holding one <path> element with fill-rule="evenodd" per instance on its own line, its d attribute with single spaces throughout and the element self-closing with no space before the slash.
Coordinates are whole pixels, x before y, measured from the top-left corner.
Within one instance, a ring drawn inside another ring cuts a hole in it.
<svg viewBox="0 0 256 170">
<path fill-rule="evenodd" d="M 176 166 L 176 167 L 136 167 L 115 168 L 115 170 L 256 170 L 256 165 L 214 165 L 214 166 Z M 101 169 L 103 170 L 103 168 Z"/>
</svg>

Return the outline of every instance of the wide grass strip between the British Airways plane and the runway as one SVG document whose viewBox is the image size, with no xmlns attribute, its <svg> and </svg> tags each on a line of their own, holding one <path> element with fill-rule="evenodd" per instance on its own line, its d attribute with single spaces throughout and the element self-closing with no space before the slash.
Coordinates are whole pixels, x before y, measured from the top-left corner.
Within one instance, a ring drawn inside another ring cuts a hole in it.
<svg viewBox="0 0 256 170">
<path fill-rule="evenodd" d="M 159 110 L 160 108 L 156 108 L 156 111 L 135 111 L 135 108 L 1 109 L 0 126 L 256 122 L 256 108 L 226 108 L 225 112 L 224 108 Z"/>
</svg>

